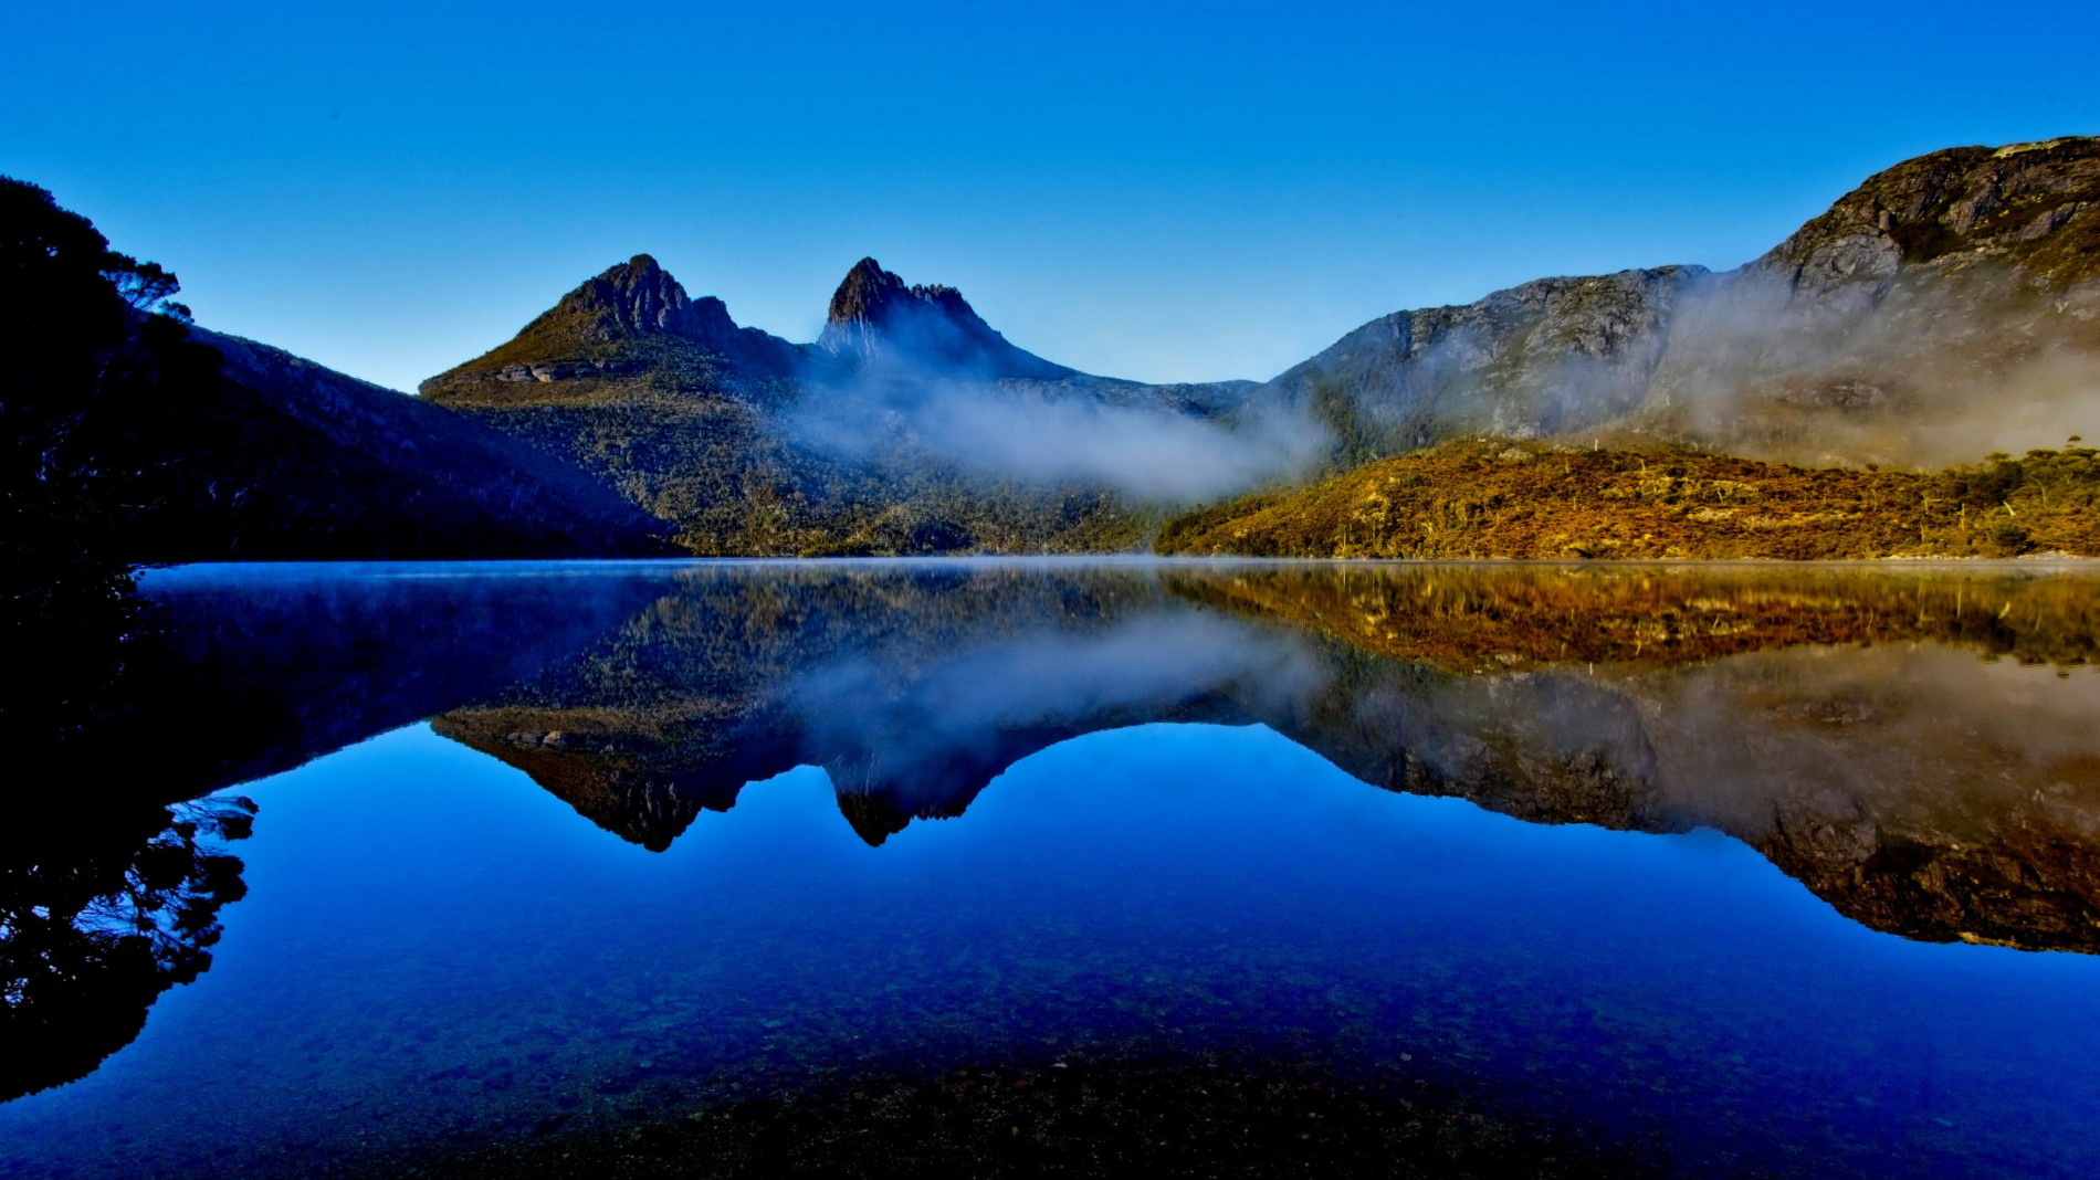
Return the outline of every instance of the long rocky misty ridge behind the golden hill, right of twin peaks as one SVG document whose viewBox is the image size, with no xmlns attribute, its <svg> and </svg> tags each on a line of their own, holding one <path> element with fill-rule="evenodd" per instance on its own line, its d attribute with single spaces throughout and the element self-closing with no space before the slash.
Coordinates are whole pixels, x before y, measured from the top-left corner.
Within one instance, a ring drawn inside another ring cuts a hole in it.
<svg viewBox="0 0 2100 1180">
<path fill-rule="evenodd" d="M 1636 430 L 1808 462 L 1974 462 L 2100 426 L 2100 139 L 1957 147 L 1762 258 L 1539 279 L 1350 332 L 1252 395 L 1344 458 Z"/>
</svg>

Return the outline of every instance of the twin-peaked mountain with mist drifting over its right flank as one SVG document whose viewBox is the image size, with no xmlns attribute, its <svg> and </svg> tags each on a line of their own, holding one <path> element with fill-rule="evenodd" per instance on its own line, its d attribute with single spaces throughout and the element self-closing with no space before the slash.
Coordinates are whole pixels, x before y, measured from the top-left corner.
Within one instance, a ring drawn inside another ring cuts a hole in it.
<svg viewBox="0 0 2100 1180">
<path fill-rule="evenodd" d="M 1056 365 L 953 288 L 907 286 L 874 258 L 840 281 L 823 334 L 792 344 L 638 254 L 422 397 L 573 458 L 693 552 L 857 554 L 1134 548 L 1161 512 L 1115 481 L 972 451 L 1031 424 L 1212 426 L 1252 388 Z M 1029 420 L 1044 412 L 1054 422 Z"/>
</svg>

